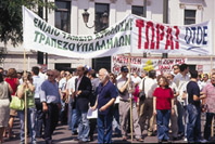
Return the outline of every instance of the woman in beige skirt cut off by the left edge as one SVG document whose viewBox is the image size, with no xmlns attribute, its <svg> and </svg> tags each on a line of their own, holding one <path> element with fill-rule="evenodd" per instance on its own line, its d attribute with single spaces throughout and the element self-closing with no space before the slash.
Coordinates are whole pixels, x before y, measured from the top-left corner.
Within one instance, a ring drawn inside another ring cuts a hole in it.
<svg viewBox="0 0 215 144">
<path fill-rule="evenodd" d="M 9 123 L 11 92 L 11 87 L 3 80 L 3 76 L 0 73 L 0 143 L 3 142 L 3 131 Z"/>
</svg>

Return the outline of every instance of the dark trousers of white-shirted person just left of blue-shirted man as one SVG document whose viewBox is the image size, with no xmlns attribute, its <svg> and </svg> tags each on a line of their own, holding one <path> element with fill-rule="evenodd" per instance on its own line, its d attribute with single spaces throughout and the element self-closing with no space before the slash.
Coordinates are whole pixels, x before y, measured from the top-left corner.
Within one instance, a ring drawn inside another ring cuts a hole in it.
<svg viewBox="0 0 215 144">
<path fill-rule="evenodd" d="M 40 99 L 35 99 L 36 105 L 36 136 L 41 138 L 42 135 L 42 125 L 43 125 L 43 113 L 42 113 L 42 103 Z"/>
</svg>

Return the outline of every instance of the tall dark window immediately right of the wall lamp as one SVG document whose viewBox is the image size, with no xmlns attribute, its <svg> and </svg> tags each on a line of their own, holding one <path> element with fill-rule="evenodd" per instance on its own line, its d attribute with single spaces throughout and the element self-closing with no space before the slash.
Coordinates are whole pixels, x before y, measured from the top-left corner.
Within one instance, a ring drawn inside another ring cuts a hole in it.
<svg viewBox="0 0 215 144">
<path fill-rule="evenodd" d="M 109 4 L 96 3 L 94 11 L 94 32 L 99 32 L 109 27 Z M 108 14 L 106 22 L 103 22 L 104 14 Z"/>
</svg>

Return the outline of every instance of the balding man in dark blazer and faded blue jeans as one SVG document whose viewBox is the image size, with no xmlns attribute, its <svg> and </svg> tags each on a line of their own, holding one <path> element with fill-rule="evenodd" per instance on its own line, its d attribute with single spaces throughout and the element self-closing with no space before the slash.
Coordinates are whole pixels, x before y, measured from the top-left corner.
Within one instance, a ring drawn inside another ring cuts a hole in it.
<svg viewBox="0 0 215 144">
<path fill-rule="evenodd" d="M 89 135 L 89 120 L 87 119 L 89 96 L 91 94 L 92 86 L 88 77 L 84 75 L 85 67 L 77 67 L 78 78 L 75 80 L 75 92 L 72 95 L 72 99 L 75 103 L 75 109 L 77 113 L 78 121 L 78 138 L 80 142 L 88 142 Z"/>
</svg>

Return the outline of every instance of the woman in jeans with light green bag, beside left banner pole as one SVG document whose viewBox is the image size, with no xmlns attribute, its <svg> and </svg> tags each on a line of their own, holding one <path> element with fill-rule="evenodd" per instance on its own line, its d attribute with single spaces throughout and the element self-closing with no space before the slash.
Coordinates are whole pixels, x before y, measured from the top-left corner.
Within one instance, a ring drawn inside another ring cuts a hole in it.
<svg viewBox="0 0 215 144">
<path fill-rule="evenodd" d="M 33 86 L 33 78 L 30 75 L 24 76 L 23 83 L 18 86 L 17 88 L 17 96 L 20 99 L 25 100 L 25 91 L 27 95 L 27 128 L 29 130 L 30 136 L 31 136 L 31 144 L 36 144 L 36 131 L 35 131 L 35 116 L 34 116 L 34 106 L 35 106 L 35 97 L 34 97 L 34 91 L 35 87 Z M 20 117 L 21 121 L 21 143 L 25 143 L 25 109 L 17 110 L 17 115 Z"/>
</svg>

